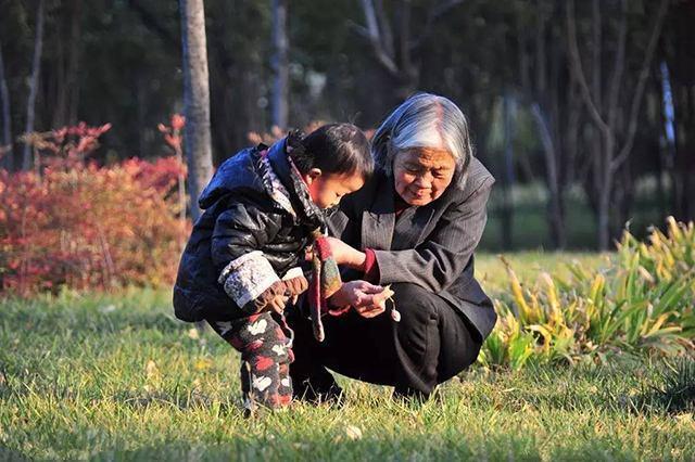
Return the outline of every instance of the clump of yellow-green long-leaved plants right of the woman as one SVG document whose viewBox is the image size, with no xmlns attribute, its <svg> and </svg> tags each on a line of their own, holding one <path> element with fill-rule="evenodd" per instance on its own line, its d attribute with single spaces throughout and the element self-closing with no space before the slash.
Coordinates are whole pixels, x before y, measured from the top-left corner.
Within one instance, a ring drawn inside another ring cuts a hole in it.
<svg viewBox="0 0 695 462">
<path fill-rule="evenodd" d="M 571 264 L 563 281 L 541 273 L 525 287 L 505 261 L 510 296 L 479 361 L 521 368 L 527 361 L 605 360 L 614 354 L 693 355 L 695 230 L 668 218 L 668 235 L 647 242 L 624 231 L 608 268 Z"/>
</svg>

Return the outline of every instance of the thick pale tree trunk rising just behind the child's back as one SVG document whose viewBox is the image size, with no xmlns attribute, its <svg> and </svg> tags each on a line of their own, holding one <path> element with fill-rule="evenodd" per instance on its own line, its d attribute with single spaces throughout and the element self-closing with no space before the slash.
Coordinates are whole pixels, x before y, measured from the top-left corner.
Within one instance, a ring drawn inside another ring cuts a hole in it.
<svg viewBox="0 0 695 462">
<path fill-rule="evenodd" d="M 191 217 L 201 210 L 198 196 L 213 172 L 210 137 L 210 82 L 203 0 L 180 0 L 184 55 L 185 144 Z"/>
</svg>

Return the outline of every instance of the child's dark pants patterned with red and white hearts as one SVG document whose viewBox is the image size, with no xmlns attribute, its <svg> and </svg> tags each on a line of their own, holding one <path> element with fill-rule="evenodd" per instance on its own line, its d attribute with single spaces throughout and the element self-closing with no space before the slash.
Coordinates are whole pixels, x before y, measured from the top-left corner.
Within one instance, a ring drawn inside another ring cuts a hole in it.
<svg viewBox="0 0 695 462">
<path fill-rule="evenodd" d="M 266 311 L 229 321 L 207 321 L 210 325 L 241 352 L 241 390 L 244 408 L 254 403 L 278 409 L 292 400 L 290 362 L 292 331 L 285 317 Z"/>
</svg>

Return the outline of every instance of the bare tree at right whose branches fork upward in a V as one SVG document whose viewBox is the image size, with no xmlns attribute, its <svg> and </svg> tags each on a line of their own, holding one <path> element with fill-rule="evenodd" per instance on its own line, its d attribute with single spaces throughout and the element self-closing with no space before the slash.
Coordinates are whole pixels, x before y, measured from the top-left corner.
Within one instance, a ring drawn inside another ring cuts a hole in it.
<svg viewBox="0 0 695 462">
<path fill-rule="evenodd" d="M 654 51 L 661 34 L 664 17 L 669 0 L 660 0 L 658 12 L 649 40 L 644 51 L 642 65 L 636 77 L 636 84 L 629 99 L 630 104 L 621 103 L 621 92 L 624 92 L 623 81 L 626 73 L 627 44 L 627 0 L 621 1 L 618 37 L 615 43 L 612 68 L 608 79 L 603 79 L 601 72 L 603 38 L 601 28 L 599 1 L 593 1 L 592 25 L 593 55 L 591 60 L 591 87 L 582 66 L 582 60 L 577 39 L 577 21 L 574 18 L 574 1 L 570 0 L 566 9 L 568 51 L 571 72 L 579 82 L 580 94 L 594 127 L 598 133 L 592 150 L 593 188 L 597 192 L 598 246 L 607 249 L 610 241 L 611 198 L 615 192 L 615 177 L 628 161 L 637 129 L 637 116 Z M 627 111 L 626 111 L 627 110 Z"/>
</svg>

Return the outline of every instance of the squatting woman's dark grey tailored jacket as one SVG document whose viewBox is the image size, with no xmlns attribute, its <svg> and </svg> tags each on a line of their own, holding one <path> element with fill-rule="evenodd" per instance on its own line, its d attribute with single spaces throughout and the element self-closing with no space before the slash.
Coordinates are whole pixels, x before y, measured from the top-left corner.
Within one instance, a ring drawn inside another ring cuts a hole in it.
<svg viewBox="0 0 695 462">
<path fill-rule="evenodd" d="M 396 220 L 393 179 L 377 171 L 363 189 L 343 198 L 329 230 L 356 248 L 375 249 L 379 284 L 410 282 L 440 295 L 483 339 L 497 317 L 473 278 L 473 251 L 485 227 L 493 183 L 473 158 L 467 174 L 456 175 L 441 197 L 405 209 Z"/>
</svg>

